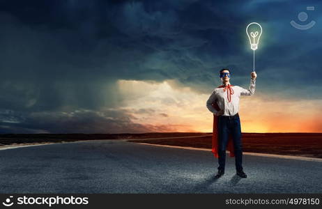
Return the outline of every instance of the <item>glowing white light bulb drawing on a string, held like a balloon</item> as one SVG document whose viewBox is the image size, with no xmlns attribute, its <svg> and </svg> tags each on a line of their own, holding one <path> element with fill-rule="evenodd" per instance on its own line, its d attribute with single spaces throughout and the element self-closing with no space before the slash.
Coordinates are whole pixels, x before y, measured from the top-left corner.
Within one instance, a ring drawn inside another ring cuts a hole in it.
<svg viewBox="0 0 322 209">
<path fill-rule="evenodd" d="M 261 29 L 261 25 L 257 22 L 251 22 L 246 27 L 246 33 L 248 39 L 250 39 L 250 48 L 253 50 L 253 72 L 255 72 L 255 50 L 259 45 L 259 38 L 261 38 L 261 33 L 263 29 Z"/>
</svg>

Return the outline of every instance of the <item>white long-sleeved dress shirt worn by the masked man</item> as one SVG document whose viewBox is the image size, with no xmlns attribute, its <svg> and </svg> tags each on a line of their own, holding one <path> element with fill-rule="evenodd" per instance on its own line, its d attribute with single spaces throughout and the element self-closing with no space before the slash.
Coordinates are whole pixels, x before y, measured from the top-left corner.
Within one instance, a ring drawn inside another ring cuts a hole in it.
<svg viewBox="0 0 322 209">
<path fill-rule="evenodd" d="M 211 93 L 209 99 L 206 102 L 206 106 L 213 114 L 217 114 L 217 110 L 211 104 L 217 102 L 220 109 L 224 109 L 224 114 L 222 116 L 233 116 L 239 111 L 239 100 L 240 95 L 253 95 L 255 93 L 255 79 L 250 80 L 250 88 L 245 89 L 240 86 L 231 86 L 233 89 L 233 94 L 231 94 L 231 100 L 229 102 L 229 97 L 227 98 L 227 91 L 224 88 L 215 88 L 213 93 Z"/>
</svg>

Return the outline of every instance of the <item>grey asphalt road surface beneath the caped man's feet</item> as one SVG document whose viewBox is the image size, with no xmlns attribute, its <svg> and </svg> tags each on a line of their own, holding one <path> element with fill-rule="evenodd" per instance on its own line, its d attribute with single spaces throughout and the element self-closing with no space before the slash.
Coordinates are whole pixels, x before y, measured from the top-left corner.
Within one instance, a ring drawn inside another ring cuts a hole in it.
<svg viewBox="0 0 322 209">
<path fill-rule="evenodd" d="M 78 141 L 0 150 L 0 193 L 321 193 L 322 162 L 244 155 L 248 178 L 227 155 L 215 179 L 210 151 Z"/>
</svg>

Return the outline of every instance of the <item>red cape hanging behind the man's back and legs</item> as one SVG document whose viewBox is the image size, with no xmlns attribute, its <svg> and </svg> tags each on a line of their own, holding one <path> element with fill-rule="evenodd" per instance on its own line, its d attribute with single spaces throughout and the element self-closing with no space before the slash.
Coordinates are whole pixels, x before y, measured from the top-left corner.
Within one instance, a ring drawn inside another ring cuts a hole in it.
<svg viewBox="0 0 322 209">
<path fill-rule="evenodd" d="M 218 88 L 222 88 L 223 86 L 218 86 Z M 218 107 L 218 105 L 215 104 L 211 104 L 213 105 L 213 107 L 217 110 L 220 111 L 220 108 Z M 211 152 L 213 153 L 213 155 L 215 155 L 215 157 L 219 157 L 218 155 L 218 128 L 217 128 L 217 124 L 218 124 L 218 116 L 216 116 L 215 114 L 213 114 L 213 141 L 212 141 L 212 149 Z M 233 150 L 233 138 L 231 137 L 231 134 L 229 134 L 228 137 L 228 144 L 227 144 L 227 150 L 229 150 L 229 156 L 230 157 L 235 157 L 234 154 L 234 150 Z"/>
</svg>

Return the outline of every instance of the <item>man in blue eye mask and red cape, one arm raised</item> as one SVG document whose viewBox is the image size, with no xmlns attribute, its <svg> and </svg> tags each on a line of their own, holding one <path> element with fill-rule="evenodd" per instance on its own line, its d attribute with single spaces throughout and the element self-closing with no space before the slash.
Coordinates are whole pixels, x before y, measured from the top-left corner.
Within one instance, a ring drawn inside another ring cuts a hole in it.
<svg viewBox="0 0 322 209">
<path fill-rule="evenodd" d="M 219 167 L 215 178 L 224 175 L 226 162 L 226 148 L 230 156 L 235 156 L 236 174 L 247 178 L 243 171 L 243 150 L 241 141 L 241 128 L 239 111 L 240 95 L 253 95 L 255 93 L 256 72 L 251 73 L 250 88 L 233 86 L 229 80 L 231 72 L 229 69 L 220 70 L 222 85 L 215 88 L 206 102 L 206 106 L 213 113 L 213 149 L 215 157 L 218 157 Z"/>
</svg>

